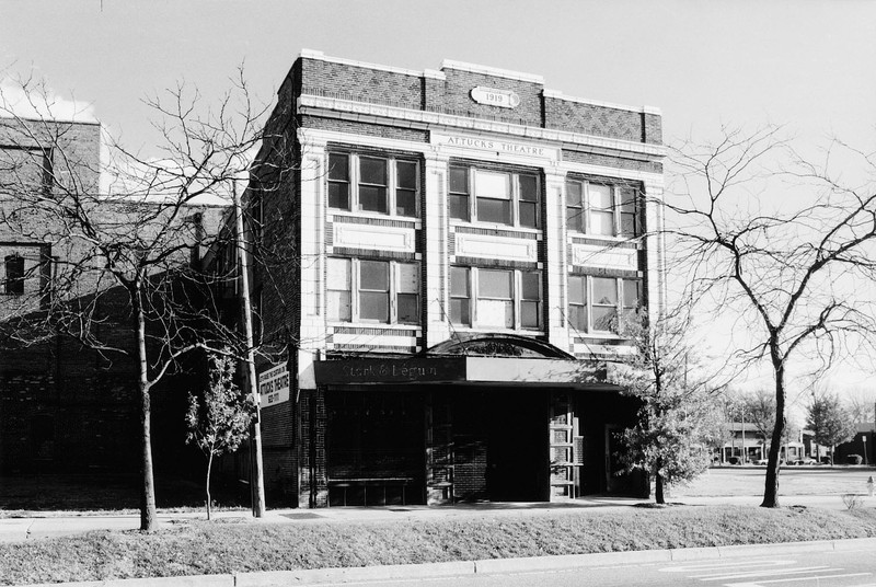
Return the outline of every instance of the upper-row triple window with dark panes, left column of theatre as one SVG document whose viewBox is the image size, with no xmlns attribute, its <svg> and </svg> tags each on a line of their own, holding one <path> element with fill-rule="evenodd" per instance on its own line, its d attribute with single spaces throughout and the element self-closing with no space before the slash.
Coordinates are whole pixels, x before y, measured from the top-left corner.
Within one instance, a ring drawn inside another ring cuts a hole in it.
<svg viewBox="0 0 876 587">
<path fill-rule="evenodd" d="M 328 153 L 328 207 L 338 210 L 417 216 L 416 161 Z"/>
</svg>

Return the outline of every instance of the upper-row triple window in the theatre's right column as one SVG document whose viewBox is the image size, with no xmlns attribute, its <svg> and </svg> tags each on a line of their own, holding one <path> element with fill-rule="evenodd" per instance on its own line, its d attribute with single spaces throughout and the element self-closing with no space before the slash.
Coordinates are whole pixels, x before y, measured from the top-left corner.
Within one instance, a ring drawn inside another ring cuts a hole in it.
<svg viewBox="0 0 876 587">
<path fill-rule="evenodd" d="M 641 232 L 635 187 L 593 182 L 566 182 L 566 227 L 602 237 L 637 237 Z"/>
</svg>

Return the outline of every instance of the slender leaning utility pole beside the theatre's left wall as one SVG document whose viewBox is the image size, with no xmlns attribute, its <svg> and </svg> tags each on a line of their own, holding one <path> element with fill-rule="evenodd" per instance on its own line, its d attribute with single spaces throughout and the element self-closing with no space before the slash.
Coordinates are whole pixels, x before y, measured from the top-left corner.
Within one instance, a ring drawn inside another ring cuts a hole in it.
<svg viewBox="0 0 876 587">
<path fill-rule="evenodd" d="M 240 310 L 243 314 L 243 335 L 246 344 L 246 387 L 255 403 L 255 417 L 252 427 L 252 494 L 253 516 L 262 518 L 265 515 L 265 481 L 262 465 L 262 396 L 258 393 L 258 381 L 255 378 L 255 358 L 253 356 L 253 309 L 250 302 L 250 262 L 246 254 L 246 240 L 243 233 L 243 208 L 240 204 L 238 184 L 232 182 L 231 193 L 234 197 L 235 241 L 238 245 L 238 267 L 240 269 Z"/>
</svg>

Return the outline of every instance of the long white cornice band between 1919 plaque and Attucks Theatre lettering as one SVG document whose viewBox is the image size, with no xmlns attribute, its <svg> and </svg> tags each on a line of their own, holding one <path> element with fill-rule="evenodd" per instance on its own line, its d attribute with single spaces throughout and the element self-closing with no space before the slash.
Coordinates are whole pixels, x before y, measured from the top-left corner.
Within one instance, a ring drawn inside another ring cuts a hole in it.
<svg viewBox="0 0 876 587">
<path fill-rule="evenodd" d="M 385 106 L 382 104 L 370 104 L 365 102 L 354 102 L 336 97 L 315 96 L 302 94 L 298 97 L 298 108 L 319 108 L 334 111 L 346 118 L 362 122 L 380 123 L 381 118 L 393 120 L 407 120 L 411 128 L 429 129 L 433 126 L 446 126 L 489 133 L 494 135 L 507 135 L 509 137 L 521 137 L 530 140 L 543 140 L 554 143 L 572 143 L 584 147 L 597 147 L 612 149 L 616 151 L 641 153 L 650 157 L 666 157 L 667 149 L 662 145 L 652 145 L 646 142 L 633 142 L 622 139 L 611 139 L 569 133 L 567 130 L 556 130 L 551 128 L 539 128 L 532 126 L 515 125 L 510 123 L 483 120 L 466 116 L 456 116 L 428 111 L 415 111 L 401 108 L 397 106 Z"/>
</svg>

